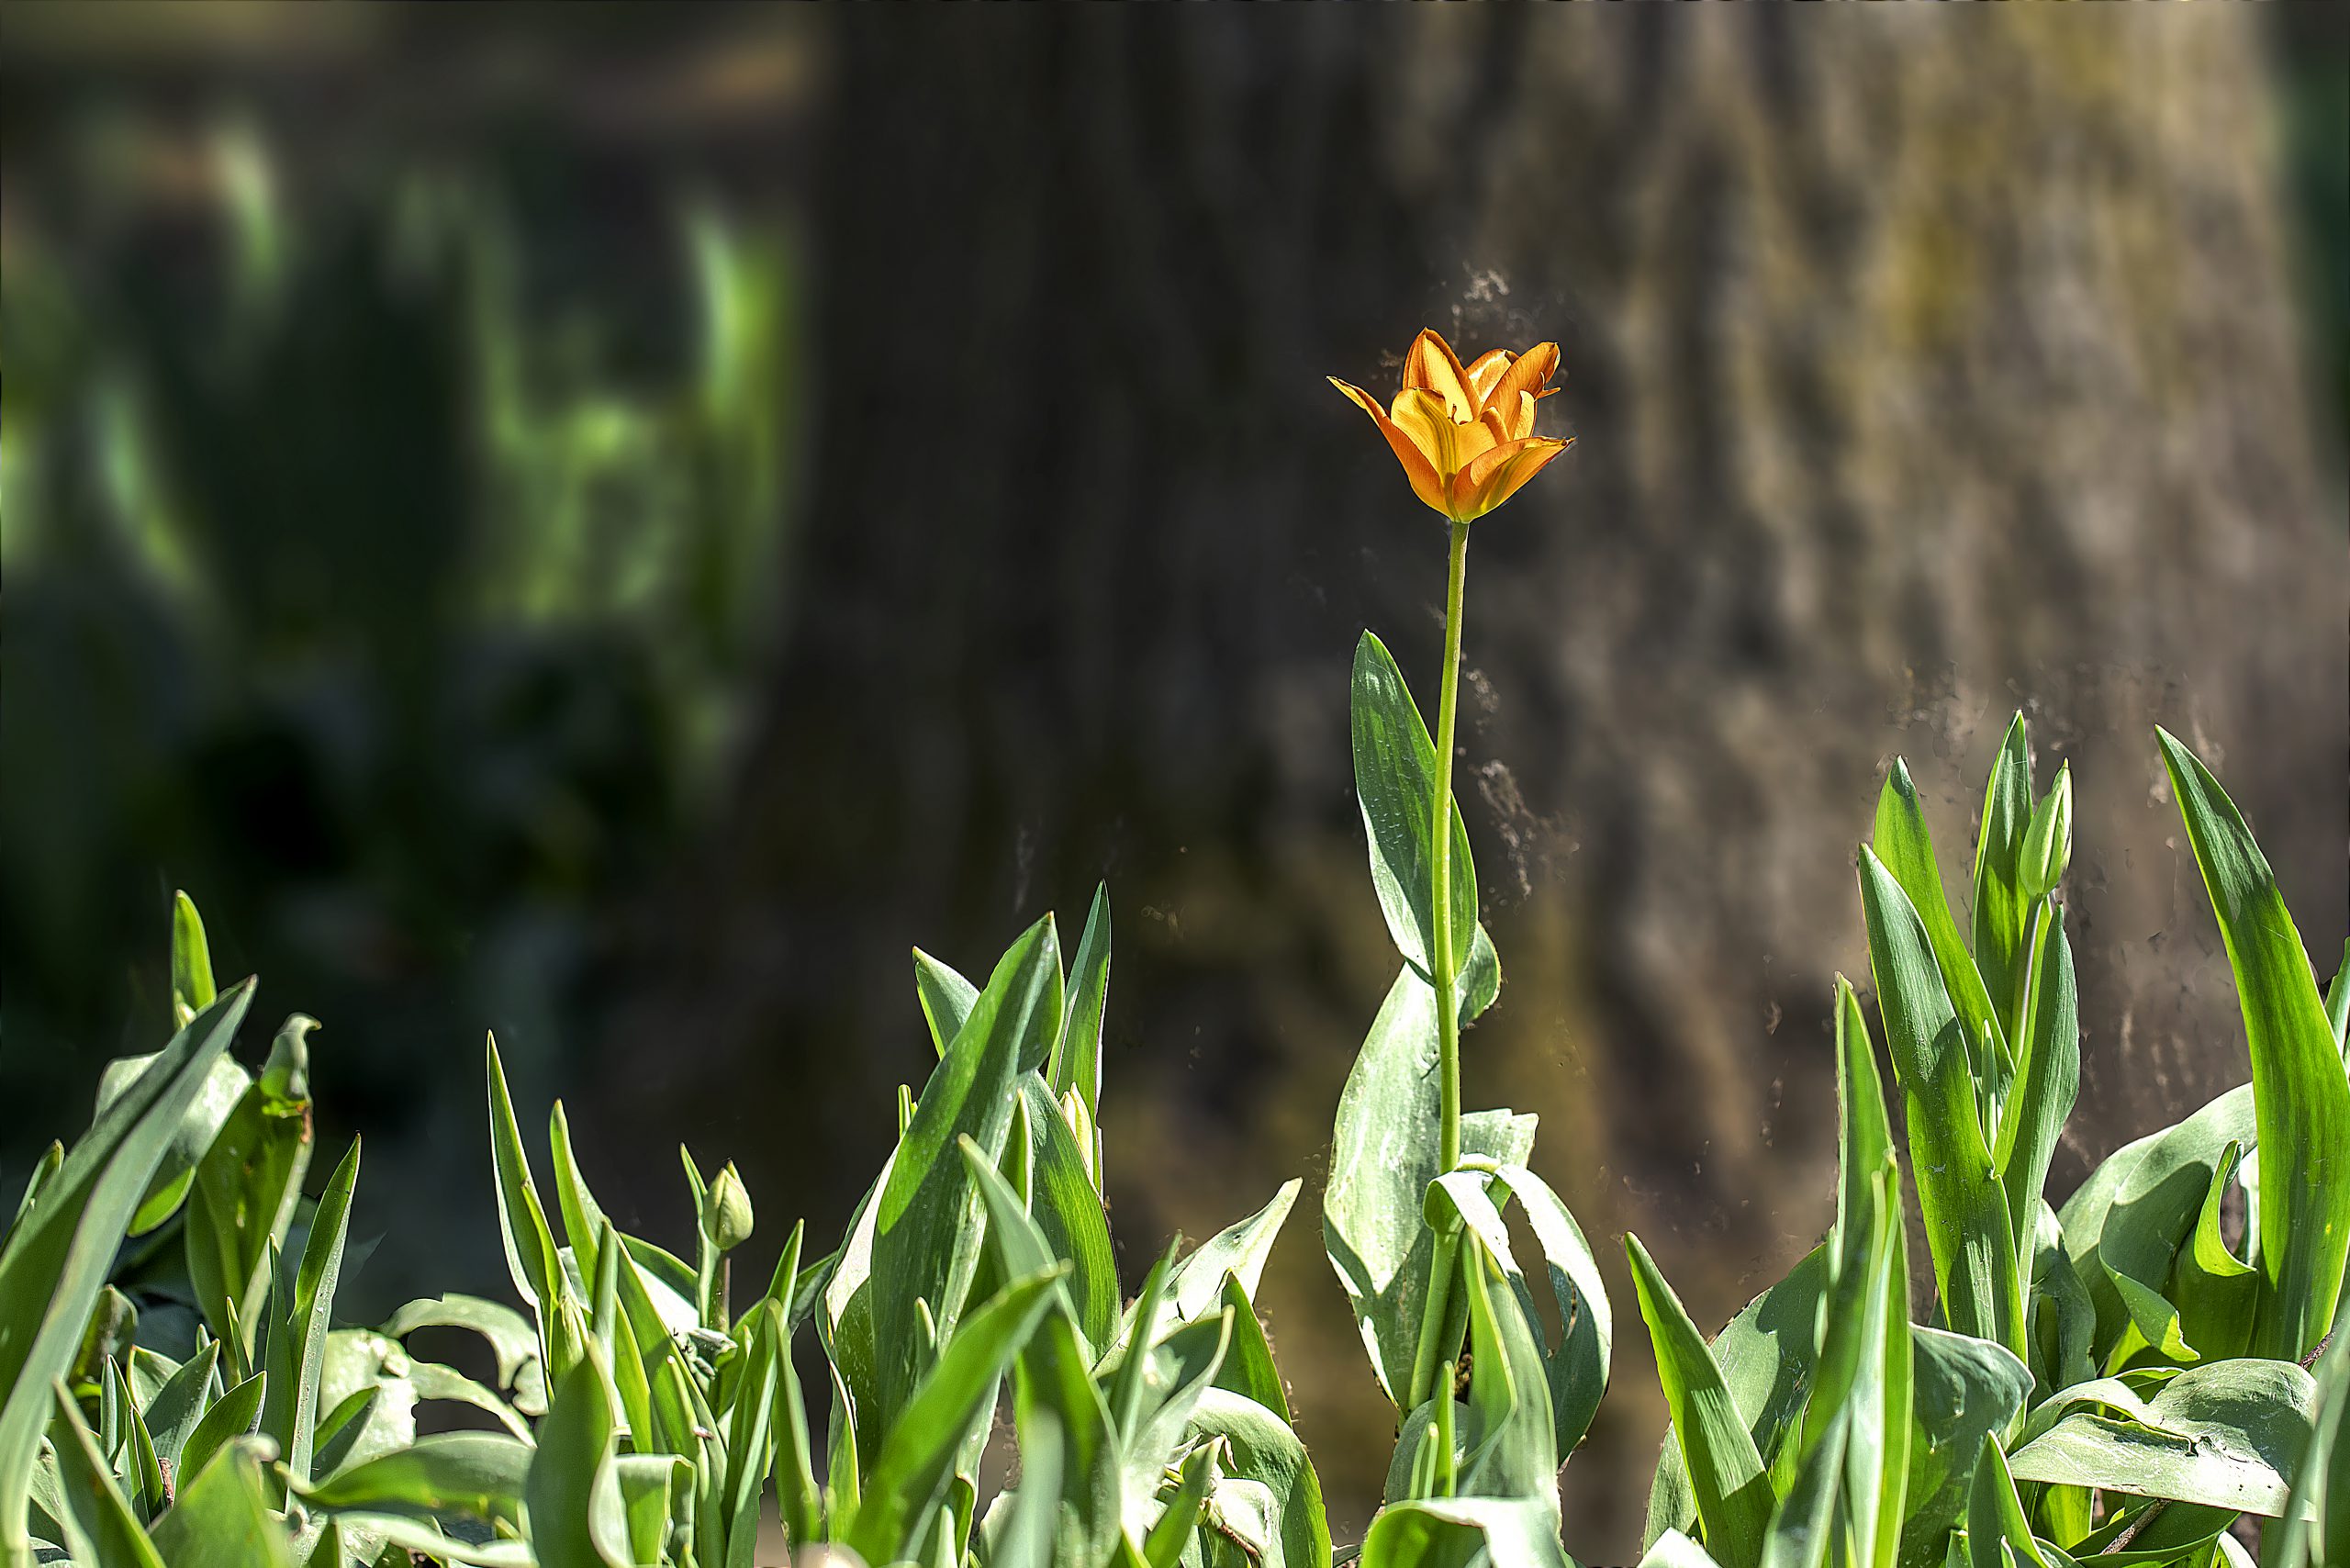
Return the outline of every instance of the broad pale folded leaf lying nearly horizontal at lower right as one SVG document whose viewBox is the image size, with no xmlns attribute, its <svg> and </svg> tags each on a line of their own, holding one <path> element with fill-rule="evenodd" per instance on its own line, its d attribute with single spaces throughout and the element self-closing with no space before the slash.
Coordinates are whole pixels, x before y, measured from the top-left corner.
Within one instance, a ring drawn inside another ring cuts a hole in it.
<svg viewBox="0 0 2350 1568">
<path fill-rule="evenodd" d="M 2317 1385 L 2291 1361 L 2214 1361 L 2186 1368 L 2136 1413 L 2070 1410 L 2009 1469 L 2016 1481 L 2275 1516 L 2315 1410 Z"/>
</svg>

